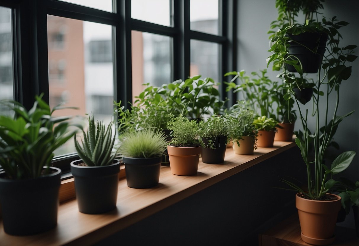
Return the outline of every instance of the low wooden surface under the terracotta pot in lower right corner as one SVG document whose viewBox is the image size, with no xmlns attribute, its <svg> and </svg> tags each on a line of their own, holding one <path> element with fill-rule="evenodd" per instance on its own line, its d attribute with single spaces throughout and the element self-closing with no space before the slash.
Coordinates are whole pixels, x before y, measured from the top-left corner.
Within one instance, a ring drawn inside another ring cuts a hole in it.
<svg viewBox="0 0 359 246">
<path fill-rule="evenodd" d="M 308 244 L 300 237 L 298 214 L 295 214 L 279 223 L 269 231 L 259 235 L 259 246 L 303 246 Z M 332 246 L 358 246 L 359 238 L 355 230 L 337 226 L 335 241 Z"/>
</svg>

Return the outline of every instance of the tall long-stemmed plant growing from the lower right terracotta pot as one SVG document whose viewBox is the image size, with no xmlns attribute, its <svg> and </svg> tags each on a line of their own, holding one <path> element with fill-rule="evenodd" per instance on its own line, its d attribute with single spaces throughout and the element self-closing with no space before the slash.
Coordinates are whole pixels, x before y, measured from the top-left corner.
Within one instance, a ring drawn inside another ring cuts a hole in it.
<svg viewBox="0 0 359 246">
<path fill-rule="evenodd" d="M 334 22 L 337 20 L 333 18 L 332 21 Z M 299 108 L 300 121 L 303 127 L 303 131 L 299 130 L 295 132 L 295 135 L 297 136 L 295 142 L 299 146 L 303 160 L 307 166 L 307 185 L 309 192 L 304 194 L 310 199 L 320 199 L 327 191 L 329 191 L 332 185 L 335 184 L 334 180 L 327 180 L 329 176 L 345 170 L 350 165 L 355 155 L 354 151 L 346 151 L 337 156 L 330 167 L 324 164 L 325 151 L 331 144 L 340 122 L 353 113 L 353 111 L 351 111 L 342 116 L 337 115 L 341 82 L 349 79 L 351 75 L 351 66 L 346 66 L 346 63 L 354 61 L 357 57 L 353 55 L 353 49 L 356 48 L 356 46 L 349 45 L 342 48 L 339 47 L 341 35 L 337 29 L 344 24 L 348 23 L 341 22 L 341 24 L 337 25 L 335 30 L 331 30 L 330 35 L 328 35 L 329 44 L 327 47 L 327 54 L 322 61 L 323 70 L 320 69 L 318 71 L 318 79 L 313 86 L 315 94 L 313 96 L 314 110 L 312 117 L 314 117 L 316 121 L 313 133 L 309 129 L 310 115 L 308 115 L 308 109 L 304 108 L 305 106 L 300 105 L 299 100 L 294 97 Z M 333 23 L 331 23 L 331 25 L 333 25 Z M 284 96 L 289 99 L 291 95 L 295 95 L 293 88 L 298 81 L 303 79 L 303 74 L 299 74 L 299 77 L 296 77 L 294 74 L 282 72 L 281 76 L 290 86 L 290 93 Z M 325 93 L 322 90 L 325 90 Z M 330 116 L 330 95 L 333 94 L 335 94 L 336 100 L 332 116 Z M 324 112 L 320 112 L 322 104 L 325 108 Z M 313 145 L 312 150 L 310 148 L 311 145 Z M 312 165 L 314 165 L 313 173 L 311 168 Z M 303 193 L 303 190 L 300 189 L 299 186 L 289 181 L 285 182 L 295 190 Z"/>
</svg>

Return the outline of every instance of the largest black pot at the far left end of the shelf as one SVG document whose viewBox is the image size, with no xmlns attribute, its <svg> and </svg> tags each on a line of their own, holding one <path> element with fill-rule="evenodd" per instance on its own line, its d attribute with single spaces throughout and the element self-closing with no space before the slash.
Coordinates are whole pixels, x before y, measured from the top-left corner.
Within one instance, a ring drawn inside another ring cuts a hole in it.
<svg viewBox="0 0 359 246">
<path fill-rule="evenodd" d="M 36 179 L 7 179 L 0 172 L 0 203 L 4 231 L 25 236 L 45 232 L 57 224 L 61 170 Z"/>
</svg>

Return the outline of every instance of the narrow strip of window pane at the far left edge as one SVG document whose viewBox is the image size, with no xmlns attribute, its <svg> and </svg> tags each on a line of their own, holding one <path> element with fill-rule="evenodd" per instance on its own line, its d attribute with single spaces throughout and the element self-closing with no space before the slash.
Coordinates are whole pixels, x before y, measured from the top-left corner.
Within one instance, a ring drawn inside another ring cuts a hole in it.
<svg viewBox="0 0 359 246">
<path fill-rule="evenodd" d="M 0 100 L 13 99 L 13 39 L 11 9 L 0 6 Z M 9 113 L 1 106 L 0 114 Z"/>
</svg>

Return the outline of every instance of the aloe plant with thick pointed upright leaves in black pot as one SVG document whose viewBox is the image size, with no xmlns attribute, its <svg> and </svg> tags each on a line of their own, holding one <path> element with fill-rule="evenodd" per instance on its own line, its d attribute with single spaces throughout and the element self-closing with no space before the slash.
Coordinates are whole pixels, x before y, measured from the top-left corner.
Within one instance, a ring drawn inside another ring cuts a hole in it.
<svg viewBox="0 0 359 246">
<path fill-rule="evenodd" d="M 103 122 L 97 121 L 96 124 L 91 115 L 87 132 L 83 131 L 82 146 L 75 136 L 76 151 L 87 166 L 106 166 L 112 164 L 115 159 L 117 150 L 111 155 L 116 135 L 115 133 L 112 136 L 112 124 L 113 122 L 110 122 L 107 128 Z"/>
</svg>

